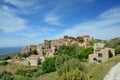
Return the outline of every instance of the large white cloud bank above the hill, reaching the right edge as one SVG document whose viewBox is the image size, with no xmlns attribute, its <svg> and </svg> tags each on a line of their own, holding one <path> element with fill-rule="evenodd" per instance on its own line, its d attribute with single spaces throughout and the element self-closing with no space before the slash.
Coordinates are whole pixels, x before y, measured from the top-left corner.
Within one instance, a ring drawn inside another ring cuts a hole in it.
<svg viewBox="0 0 120 80">
<path fill-rule="evenodd" d="M 120 8 L 110 9 L 94 20 L 73 25 L 59 36 L 89 34 L 100 39 L 118 37 L 120 36 L 120 15 L 118 14 L 120 14 Z"/>
</svg>

